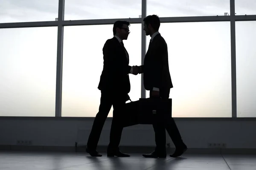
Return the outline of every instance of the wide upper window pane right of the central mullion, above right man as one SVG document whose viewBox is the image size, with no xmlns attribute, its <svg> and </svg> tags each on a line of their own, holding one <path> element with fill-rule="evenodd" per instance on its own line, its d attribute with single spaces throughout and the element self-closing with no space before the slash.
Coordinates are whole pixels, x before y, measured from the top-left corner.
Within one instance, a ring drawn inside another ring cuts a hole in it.
<svg viewBox="0 0 256 170">
<path fill-rule="evenodd" d="M 147 15 L 216 16 L 230 12 L 230 0 L 147 0 Z M 227 15 L 227 14 L 226 14 Z"/>
</svg>

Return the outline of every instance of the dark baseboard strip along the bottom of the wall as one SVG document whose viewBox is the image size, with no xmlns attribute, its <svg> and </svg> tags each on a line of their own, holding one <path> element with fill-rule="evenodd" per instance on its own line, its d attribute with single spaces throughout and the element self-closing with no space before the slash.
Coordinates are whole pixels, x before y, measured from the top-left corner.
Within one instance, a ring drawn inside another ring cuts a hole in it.
<svg viewBox="0 0 256 170">
<path fill-rule="evenodd" d="M 105 153 L 108 146 L 98 146 L 99 152 Z M 124 153 L 151 153 L 153 146 L 120 146 Z M 44 151 L 44 152 L 85 152 L 85 146 L 24 146 L 24 145 L 0 145 L 0 150 L 5 151 Z M 175 148 L 166 148 L 167 153 L 173 153 Z M 189 154 L 256 154 L 256 148 L 188 148 Z"/>
</svg>

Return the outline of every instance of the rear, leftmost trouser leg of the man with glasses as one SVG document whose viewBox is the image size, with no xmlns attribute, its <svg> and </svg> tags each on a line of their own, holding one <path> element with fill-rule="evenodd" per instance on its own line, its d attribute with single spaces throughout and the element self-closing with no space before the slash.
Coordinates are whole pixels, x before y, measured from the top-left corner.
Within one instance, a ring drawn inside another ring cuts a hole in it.
<svg viewBox="0 0 256 170">
<path fill-rule="evenodd" d="M 112 99 L 110 94 L 106 92 L 101 93 L 99 112 L 96 114 L 96 117 L 93 122 L 93 127 L 88 138 L 87 147 L 90 150 L 96 150 L 96 147 L 99 142 L 100 134 L 104 123 L 108 117 L 108 113 L 112 106 Z"/>
</svg>

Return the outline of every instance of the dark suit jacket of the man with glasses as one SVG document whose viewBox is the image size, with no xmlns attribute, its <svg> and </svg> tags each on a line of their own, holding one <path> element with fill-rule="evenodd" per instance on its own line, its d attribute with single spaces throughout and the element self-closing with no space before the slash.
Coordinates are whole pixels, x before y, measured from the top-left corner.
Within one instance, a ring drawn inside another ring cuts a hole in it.
<svg viewBox="0 0 256 170">
<path fill-rule="evenodd" d="M 129 59 L 125 48 L 113 37 L 103 47 L 103 71 L 99 81 L 99 90 L 128 94 L 131 90 Z M 128 53 L 127 53 L 128 54 Z"/>
</svg>

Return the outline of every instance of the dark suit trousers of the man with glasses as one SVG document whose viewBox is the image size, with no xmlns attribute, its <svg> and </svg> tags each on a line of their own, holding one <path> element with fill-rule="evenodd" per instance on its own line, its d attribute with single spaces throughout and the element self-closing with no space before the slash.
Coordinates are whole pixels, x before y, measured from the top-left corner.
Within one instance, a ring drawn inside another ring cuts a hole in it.
<svg viewBox="0 0 256 170">
<path fill-rule="evenodd" d="M 96 149 L 103 125 L 107 119 L 108 113 L 113 105 L 113 119 L 110 130 L 110 142 L 108 150 L 118 150 L 122 135 L 122 122 L 120 116 L 122 109 L 125 107 L 125 96 L 123 93 L 113 94 L 110 91 L 101 91 L 101 99 L 99 105 L 99 112 L 93 122 L 93 127 L 88 138 L 87 147 Z"/>
</svg>

